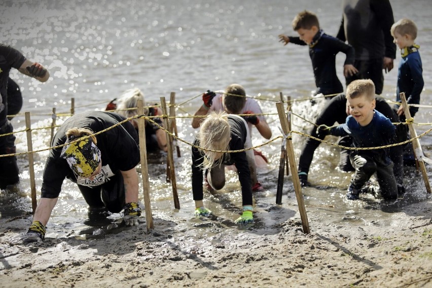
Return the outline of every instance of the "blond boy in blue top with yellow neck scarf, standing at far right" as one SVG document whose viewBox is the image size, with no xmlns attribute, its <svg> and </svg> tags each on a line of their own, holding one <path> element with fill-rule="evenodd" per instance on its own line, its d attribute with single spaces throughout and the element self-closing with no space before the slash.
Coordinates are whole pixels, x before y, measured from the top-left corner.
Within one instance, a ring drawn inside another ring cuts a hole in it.
<svg viewBox="0 0 432 288">
<path fill-rule="evenodd" d="M 390 29 L 394 43 L 401 49 L 402 59 L 399 62 L 398 70 L 398 89 L 396 100 L 401 102 L 399 93 L 405 92 L 408 104 L 419 104 L 420 93 L 423 90 L 423 68 L 421 64 L 420 46 L 414 43 L 417 38 L 417 26 L 409 19 L 401 19 L 394 23 Z M 401 121 L 405 121 L 404 110 L 402 105 L 395 105 Z M 410 107 L 410 114 L 414 116 L 418 107 Z"/>
</svg>

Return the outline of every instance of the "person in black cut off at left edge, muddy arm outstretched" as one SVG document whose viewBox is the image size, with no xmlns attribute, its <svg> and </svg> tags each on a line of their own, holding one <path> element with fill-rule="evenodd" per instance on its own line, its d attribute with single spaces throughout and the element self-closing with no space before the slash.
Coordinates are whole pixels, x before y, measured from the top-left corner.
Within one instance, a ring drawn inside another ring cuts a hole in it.
<svg viewBox="0 0 432 288">
<path fill-rule="evenodd" d="M 8 111 L 8 81 L 12 68 L 18 69 L 22 74 L 46 82 L 50 75 L 47 69 L 39 63 L 30 61 L 18 50 L 0 44 L 0 135 L 13 131 L 11 122 L 7 119 Z M 14 154 L 15 136 L 13 134 L 0 137 L 0 155 Z M 0 189 L 19 181 L 19 170 L 15 156 L 0 157 Z"/>
</svg>

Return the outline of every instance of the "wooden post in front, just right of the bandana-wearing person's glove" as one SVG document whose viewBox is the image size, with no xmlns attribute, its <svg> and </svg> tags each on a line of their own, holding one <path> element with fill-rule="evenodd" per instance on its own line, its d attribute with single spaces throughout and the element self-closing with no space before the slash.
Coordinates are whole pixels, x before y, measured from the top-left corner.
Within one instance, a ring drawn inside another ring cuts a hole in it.
<svg viewBox="0 0 432 288">
<path fill-rule="evenodd" d="M 138 115 L 144 115 L 142 100 L 138 100 Z M 150 203 L 149 169 L 147 167 L 146 125 L 144 118 L 138 118 L 139 154 L 141 162 L 142 191 L 144 193 L 144 208 L 146 210 L 147 231 L 154 228 L 152 206 Z"/>
</svg>

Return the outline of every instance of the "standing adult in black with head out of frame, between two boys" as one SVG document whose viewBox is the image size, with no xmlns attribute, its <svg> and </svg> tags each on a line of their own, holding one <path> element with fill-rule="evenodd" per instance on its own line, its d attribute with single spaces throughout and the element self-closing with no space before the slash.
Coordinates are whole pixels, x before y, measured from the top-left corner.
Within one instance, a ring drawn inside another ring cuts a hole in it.
<svg viewBox="0 0 432 288">
<path fill-rule="evenodd" d="M 347 41 L 355 50 L 354 67 L 358 73 L 347 76 L 348 86 L 357 79 L 371 79 L 375 93 L 384 86 L 382 70 L 393 68 L 396 45 L 390 34 L 394 23 L 389 0 L 342 0 L 342 22 L 337 38 Z"/>
</svg>

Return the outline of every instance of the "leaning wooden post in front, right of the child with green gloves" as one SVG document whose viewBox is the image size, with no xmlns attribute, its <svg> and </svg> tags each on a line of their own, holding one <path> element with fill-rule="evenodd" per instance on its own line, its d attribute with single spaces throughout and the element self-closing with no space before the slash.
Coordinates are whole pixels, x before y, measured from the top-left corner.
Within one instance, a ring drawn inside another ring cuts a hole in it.
<svg viewBox="0 0 432 288">
<path fill-rule="evenodd" d="M 279 114 L 279 121 L 280 124 L 282 125 L 283 133 L 287 134 L 290 132 L 290 129 L 288 128 L 288 121 L 286 119 L 285 111 L 283 109 L 283 102 L 277 102 L 276 108 L 277 108 L 277 113 Z M 303 225 L 303 232 L 309 234 L 310 233 L 309 222 L 307 220 L 306 207 L 303 201 L 302 186 L 300 185 L 299 174 L 297 173 L 293 141 L 291 140 L 291 138 L 286 139 L 286 153 L 288 155 L 290 166 L 291 166 L 294 190 L 296 192 L 300 218 L 302 220 L 302 225 Z"/>
</svg>

